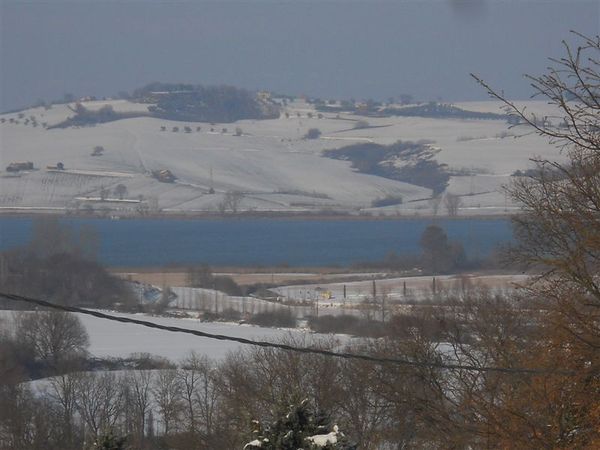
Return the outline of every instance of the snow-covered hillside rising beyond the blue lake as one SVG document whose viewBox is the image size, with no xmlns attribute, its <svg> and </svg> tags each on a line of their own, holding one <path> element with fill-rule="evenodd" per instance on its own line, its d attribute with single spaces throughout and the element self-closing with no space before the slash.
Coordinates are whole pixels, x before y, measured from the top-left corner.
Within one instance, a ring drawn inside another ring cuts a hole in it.
<svg viewBox="0 0 600 450">
<path fill-rule="evenodd" d="M 116 111 L 143 112 L 147 105 L 123 100 L 86 102 L 89 109 L 110 104 Z M 498 102 L 459 104 L 466 109 L 499 112 Z M 548 115 L 548 105 L 528 102 L 532 111 Z M 328 208 L 374 211 L 371 202 L 402 196 L 404 204 L 378 213 L 429 214 L 429 189 L 355 172 L 350 163 L 321 156 L 325 149 L 358 142 L 391 144 L 397 140 L 433 141 L 440 163 L 454 173 L 447 192 L 463 196 L 461 215 L 511 212 L 500 188 L 510 174 L 532 166 L 529 158 L 560 158 L 558 150 L 535 135 L 515 139 L 504 121 L 425 118 L 368 118 L 377 128 L 352 129 L 361 117 L 325 113 L 319 119 L 301 101 L 287 107 L 289 118 L 239 121 L 233 124 L 182 123 L 138 117 L 94 127 L 45 129 L 72 112 L 65 105 L 3 114 L 0 119 L 0 164 L 32 161 L 37 170 L 17 175 L 0 172 L 0 209 L 59 208 L 138 211 L 140 199 L 151 210 L 217 211 L 229 191 L 243 193 L 240 210 L 306 211 Z M 297 116 L 300 114 L 300 117 Z M 35 118 L 37 127 L 32 126 Z M 12 122 L 11 122 L 12 119 Z M 25 120 L 30 122 L 25 125 Z M 17 123 L 18 122 L 18 123 Z M 184 132 L 189 126 L 191 132 Z M 164 127 L 164 131 L 162 131 Z M 173 132 L 173 127 L 179 127 Z M 235 128 L 242 136 L 235 135 Z M 305 140 L 309 128 L 322 131 Z M 212 130 L 211 130 L 212 129 Z M 101 156 L 91 156 L 96 146 Z M 64 163 L 65 171 L 47 166 Z M 151 171 L 169 169 L 178 180 L 161 183 Z M 468 174 L 468 175 L 464 175 Z M 117 202 L 114 188 L 123 184 L 126 199 Z M 213 187 L 215 194 L 208 194 Z M 99 201 L 102 190 L 109 200 Z M 140 197 L 142 196 L 142 197 Z M 87 206 L 85 206 L 87 205 Z M 443 211 L 443 207 L 440 208 Z"/>
</svg>

